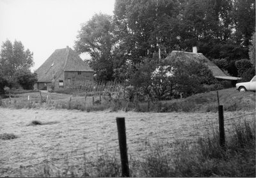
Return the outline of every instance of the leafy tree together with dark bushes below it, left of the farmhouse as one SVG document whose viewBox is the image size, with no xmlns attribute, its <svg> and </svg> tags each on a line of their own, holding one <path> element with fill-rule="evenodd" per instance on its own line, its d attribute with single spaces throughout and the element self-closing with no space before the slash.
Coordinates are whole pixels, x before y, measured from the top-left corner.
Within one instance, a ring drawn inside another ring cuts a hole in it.
<svg viewBox="0 0 256 178">
<path fill-rule="evenodd" d="M 34 65 L 33 52 L 25 50 L 21 41 L 10 40 L 3 42 L 0 53 L 0 91 L 4 86 L 12 88 L 20 85 L 24 89 L 32 89 L 37 78 L 31 73 L 30 68 Z"/>
</svg>

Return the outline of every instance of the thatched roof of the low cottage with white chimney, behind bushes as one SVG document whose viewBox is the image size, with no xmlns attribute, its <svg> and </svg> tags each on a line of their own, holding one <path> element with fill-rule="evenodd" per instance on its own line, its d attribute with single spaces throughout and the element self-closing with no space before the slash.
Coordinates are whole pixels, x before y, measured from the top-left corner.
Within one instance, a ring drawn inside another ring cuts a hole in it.
<svg viewBox="0 0 256 178">
<path fill-rule="evenodd" d="M 173 50 L 172 53 L 165 58 L 165 60 L 175 62 L 175 61 L 184 61 L 184 63 L 189 63 L 191 61 L 199 62 L 200 60 L 203 60 L 205 64 L 209 67 L 209 69 L 212 71 L 212 75 L 216 78 L 223 78 L 227 80 L 237 80 L 239 78 L 237 77 L 230 77 L 227 76 L 225 73 L 223 73 L 216 64 L 212 63 L 207 57 L 205 57 L 202 53 L 193 53 L 193 52 L 182 52 Z"/>
</svg>

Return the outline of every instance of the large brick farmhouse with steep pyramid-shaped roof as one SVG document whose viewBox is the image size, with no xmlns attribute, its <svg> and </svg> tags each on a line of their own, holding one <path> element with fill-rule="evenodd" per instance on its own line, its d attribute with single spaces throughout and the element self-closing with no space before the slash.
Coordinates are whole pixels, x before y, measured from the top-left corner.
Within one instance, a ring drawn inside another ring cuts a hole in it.
<svg viewBox="0 0 256 178">
<path fill-rule="evenodd" d="M 56 49 L 52 55 L 38 68 L 36 90 L 66 88 L 74 82 L 93 82 L 93 70 L 67 46 Z"/>
</svg>

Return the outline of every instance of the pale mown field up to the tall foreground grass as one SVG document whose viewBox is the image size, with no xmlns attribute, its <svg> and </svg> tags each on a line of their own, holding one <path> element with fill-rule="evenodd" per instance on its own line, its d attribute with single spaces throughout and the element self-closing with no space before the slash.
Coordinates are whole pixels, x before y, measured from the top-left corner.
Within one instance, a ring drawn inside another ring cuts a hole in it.
<svg viewBox="0 0 256 178">
<path fill-rule="evenodd" d="M 236 117 L 248 112 L 226 112 Z M 194 142 L 212 127 L 218 127 L 218 113 L 136 113 L 80 112 L 76 110 L 34 110 L 0 108 L 0 134 L 14 133 L 19 138 L 0 140 L 0 167 L 34 165 L 45 158 L 58 163 L 65 154 L 77 159 L 95 159 L 100 150 L 118 153 L 116 117 L 125 117 L 128 153 L 141 156 L 157 142 L 170 151 L 182 140 Z M 250 116 L 252 117 L 252 115 Z M 56 121 L 56 124 L 26 126 L 29 122 Z M 216 122 L 214 125 L 211 122 Z M 228 124 L 226 124 L 228 126 Z M 1 171 L 1 170 L 0 170 Z M 0 172 L 0 175 L 1 174 Z"/>
</svg>

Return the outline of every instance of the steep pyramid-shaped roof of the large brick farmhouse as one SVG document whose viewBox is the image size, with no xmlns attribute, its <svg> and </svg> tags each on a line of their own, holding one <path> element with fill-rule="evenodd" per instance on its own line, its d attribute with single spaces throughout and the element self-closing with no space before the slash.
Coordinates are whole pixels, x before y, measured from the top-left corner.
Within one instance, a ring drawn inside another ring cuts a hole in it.
<svg viewBox="0 0 256 178">
<path fill-rule="evenodd" d="M 91 71 L 92 68 L 72 50 L 72 48 L 56 49 L 54 53 L 38 68 L 38 82 L 52 82 L 59 77 L 61 71 Z"/>
</svg>

